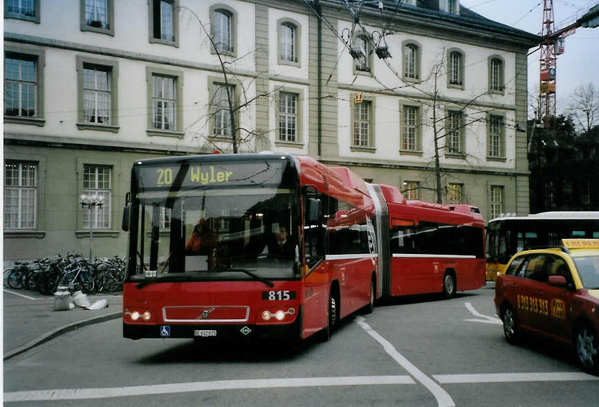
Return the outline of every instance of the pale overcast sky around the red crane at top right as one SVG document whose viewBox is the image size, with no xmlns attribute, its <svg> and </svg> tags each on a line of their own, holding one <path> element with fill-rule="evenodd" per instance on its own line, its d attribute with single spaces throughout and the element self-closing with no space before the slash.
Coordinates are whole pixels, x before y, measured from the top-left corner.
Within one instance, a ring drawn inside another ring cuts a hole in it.
<svg viewBox="0 0 599 407">
<path fill-rule="evenodd" d="M 543 0 L 460 0 L 462 6 L 502 24 L 528 33 L 540 34 Z M 573 23 L 599 0 L 553 0 L 555 30 Z M 530 51 L 533 51 L 531 49 Z M 528 57 L 528 93 L 537 92 L 539 82 L 537 51 Z M 565 52 L 557 57 L 557 114 L 567 113 L 570 95 L 580 86 L 593 82 L 599 90 L 599 28 L 578 28 L 565 40 Z"/>
</svg>

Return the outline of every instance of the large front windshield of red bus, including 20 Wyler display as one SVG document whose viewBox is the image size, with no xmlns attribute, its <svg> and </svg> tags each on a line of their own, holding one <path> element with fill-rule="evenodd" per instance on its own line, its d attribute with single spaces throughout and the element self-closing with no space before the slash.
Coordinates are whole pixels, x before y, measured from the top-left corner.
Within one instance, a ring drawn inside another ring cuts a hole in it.
<svg viewBox="0 0 599 407">
<path fill-rule="evenodd" d="M 299 188 L 290 162 L 169 164 L 136 173 L 130 281 L 299 278 Z"/>
</svg>

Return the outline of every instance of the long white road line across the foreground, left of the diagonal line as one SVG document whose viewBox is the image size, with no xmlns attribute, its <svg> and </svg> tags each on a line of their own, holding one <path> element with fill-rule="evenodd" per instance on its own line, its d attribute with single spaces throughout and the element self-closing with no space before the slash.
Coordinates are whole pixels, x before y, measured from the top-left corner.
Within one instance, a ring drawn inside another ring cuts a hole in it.
<svg viewBox="0 0 599 407">
<path fill-rule="evenodd" d="M 415 384 L 405 376 L 289 377 L 287 379 L 196 381 L 191 383 L 151 384 L 148 386 L 113 388 L 71 388 L 31 390 L 4 393 L 4 401 L 48 401 L 108 399 L 111 397 L 164 395 L 169 393 L 214 390 L 246 390 L 251 388 L 297 388 L 322 386 L 365 386 L 381 384 Z"/>
</svg>

